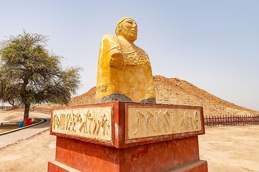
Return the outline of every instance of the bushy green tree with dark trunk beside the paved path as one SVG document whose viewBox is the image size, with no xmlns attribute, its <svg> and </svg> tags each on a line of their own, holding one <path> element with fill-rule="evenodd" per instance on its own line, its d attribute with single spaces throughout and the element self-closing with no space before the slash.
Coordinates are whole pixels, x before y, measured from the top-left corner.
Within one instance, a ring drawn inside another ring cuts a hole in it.
<svg viewBox="0 0 259 172">
<path fill-rule="evenodd" d="M 25 106 L 23 123 L 33 104 L 67 104 L 80 88 L 79 66 L 63 68 L 62 56 L 46 49 L 48 38 L 26 33 L 0 43 L 0 101 Z"/>
</svg>

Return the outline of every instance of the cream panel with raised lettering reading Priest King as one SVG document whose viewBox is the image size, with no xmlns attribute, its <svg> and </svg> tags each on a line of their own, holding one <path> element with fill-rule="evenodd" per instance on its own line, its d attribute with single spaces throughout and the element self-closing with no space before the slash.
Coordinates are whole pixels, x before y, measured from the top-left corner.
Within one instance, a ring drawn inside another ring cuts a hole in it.
<svg viewBox="0 0 259 172">
<path fill-rule="evenodd" d="M 128 139 L 201 130 L 197 109 L 128 107 Z"/>
</svg>

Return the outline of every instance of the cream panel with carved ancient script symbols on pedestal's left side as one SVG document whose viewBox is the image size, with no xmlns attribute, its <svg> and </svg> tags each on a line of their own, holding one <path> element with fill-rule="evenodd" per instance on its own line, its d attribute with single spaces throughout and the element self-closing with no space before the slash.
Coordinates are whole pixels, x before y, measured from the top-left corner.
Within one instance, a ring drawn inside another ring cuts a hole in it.
<svg viewBox="0 0 259 172">
<path fill-rule="evenodd" d="M 52 132 L 112 141 L 112 107 L 54 110 Z"/>
</svg>

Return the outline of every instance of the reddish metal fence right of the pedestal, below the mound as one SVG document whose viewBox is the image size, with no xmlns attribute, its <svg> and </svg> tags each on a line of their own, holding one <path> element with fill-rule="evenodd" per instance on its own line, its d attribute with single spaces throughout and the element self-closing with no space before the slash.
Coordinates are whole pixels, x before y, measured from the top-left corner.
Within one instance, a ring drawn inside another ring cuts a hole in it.
<svg viewBox="0 0 259 172">
<path fill-rule="evenodd" d="M 219 125 L 245 125 L 259 124 L 259 115 L 220 115 L 220 116 L 204 116 L 204 125 L 219 126 Z"/>
</svg>

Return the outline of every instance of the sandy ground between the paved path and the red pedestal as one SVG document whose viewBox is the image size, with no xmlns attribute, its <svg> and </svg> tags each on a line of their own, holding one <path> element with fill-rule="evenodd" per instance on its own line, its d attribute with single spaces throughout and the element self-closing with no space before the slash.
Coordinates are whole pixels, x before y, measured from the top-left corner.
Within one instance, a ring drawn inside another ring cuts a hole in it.
<svg viewBox="0 0 259 172">
<path fill-rule="evenodd" d="M 0 171 L 47 171 L 55 159 L 56 136 L 49 130 L 0 149 Z"/>
</svg>

